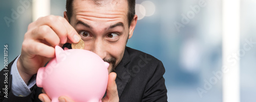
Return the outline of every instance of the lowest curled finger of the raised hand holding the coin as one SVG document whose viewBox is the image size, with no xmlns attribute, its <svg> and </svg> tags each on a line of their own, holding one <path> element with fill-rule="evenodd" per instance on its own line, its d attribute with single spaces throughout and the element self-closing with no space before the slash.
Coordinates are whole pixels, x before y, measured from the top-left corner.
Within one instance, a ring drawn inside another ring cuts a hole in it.
<svg viewBox="0 0 256 102">
<path fill-rule="evenodd" d="M 48 46 L 44 43 L 36 41 L 24 41 L 23 46 L 25 52 L 32 55 L 44 56 L 47 58 L 53 58 L 55 56 L 54 47 Z"/>
</svg>

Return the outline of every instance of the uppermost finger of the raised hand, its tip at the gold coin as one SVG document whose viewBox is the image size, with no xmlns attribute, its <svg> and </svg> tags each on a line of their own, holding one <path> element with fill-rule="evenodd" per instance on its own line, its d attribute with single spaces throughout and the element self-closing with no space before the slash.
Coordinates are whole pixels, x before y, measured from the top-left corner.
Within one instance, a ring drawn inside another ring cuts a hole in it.
<svg viewBox="0 0 256 102">
<path fill-rule="evenodd" d="M 79 41 L 80 37 L 78 36 L 77 32 L 63 17 L 53 15 L 42 17 L 38 19 L 37 25 L 48 25 L 51 27 L 59 36 L 60 43 L 66 43 L 68 38 L 75 43 Z"/>
</svg>

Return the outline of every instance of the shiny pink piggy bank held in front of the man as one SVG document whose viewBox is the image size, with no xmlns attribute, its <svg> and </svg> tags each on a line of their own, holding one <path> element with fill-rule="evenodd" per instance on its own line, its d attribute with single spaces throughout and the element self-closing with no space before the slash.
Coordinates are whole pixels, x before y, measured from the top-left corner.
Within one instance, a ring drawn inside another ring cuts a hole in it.
<svg viewBox="0 0 256 102">
<path fill-rule="evenodd" d="M 84 49 L 55 47 L 55 58 L 38 69 L 36 85 L 44 88 L 53 102 L 59 96 L 74 101 L 101 101 L 108 84 L 109 63 Z"/>
</svg>

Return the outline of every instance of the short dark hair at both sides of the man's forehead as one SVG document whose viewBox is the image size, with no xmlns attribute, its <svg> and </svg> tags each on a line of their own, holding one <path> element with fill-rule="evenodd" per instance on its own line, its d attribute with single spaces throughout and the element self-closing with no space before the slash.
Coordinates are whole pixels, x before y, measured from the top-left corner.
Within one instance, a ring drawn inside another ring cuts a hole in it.
<svg viewBox="0 0 256 102">
<path fill-rule="evenodd" d="M 67 16 L 68 16 L 69 21 L 70 21 L 70 18 L 72 17 L 72 13 L 73 13 L 73 1 L 74 0 L 66 1 L 66 10 L 67 10 Z M 128 23 L 129 23 L 129 27 L 130 27 L 131 22 L 133 21 L 133 18 L 135 16 L 135 0 L 127 0 L 127 2 L 128 2 L 127 18 L 128 18 Z"/>
</svg>

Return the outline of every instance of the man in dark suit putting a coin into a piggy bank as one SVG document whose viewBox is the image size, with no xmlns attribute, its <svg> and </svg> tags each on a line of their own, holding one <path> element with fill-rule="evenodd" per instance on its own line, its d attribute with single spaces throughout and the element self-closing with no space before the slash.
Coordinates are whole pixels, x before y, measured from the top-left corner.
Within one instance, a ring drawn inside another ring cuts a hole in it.
<svg viewBox="0 0 256 102">
<path fill-rule="evenodd" d="M 66 9 L 64 17 L 50 15 L 29 24 L 22 53 L 8 65 L 11 80 L 6 84 L 1 76 L 1 101 L 51 101 L 35 85 L 37 70 L 54 57 L 54 46 L 79 39 L 84 49 L 110 63 L 102 101 L 167 101 L 162 62 L 126 47 L 137 23 L 135 0 L 67 0 Z M 73 100 L 60 96 L 59 101 Z"/>
</svg>

